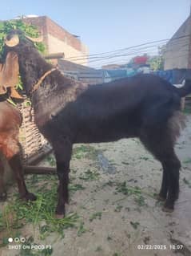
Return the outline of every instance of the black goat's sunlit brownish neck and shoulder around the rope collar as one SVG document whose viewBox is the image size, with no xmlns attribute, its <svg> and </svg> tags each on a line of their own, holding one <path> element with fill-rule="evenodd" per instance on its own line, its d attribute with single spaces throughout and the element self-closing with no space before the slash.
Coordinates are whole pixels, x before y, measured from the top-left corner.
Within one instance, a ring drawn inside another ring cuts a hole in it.
<svg viewBox="0 0 191 256">
<path fill-rule="evenodd" d="M 29 55 L 26 56 L 22 54 L 19 66 L 22 82 L 26 88 L 26 94 L 29 96 L 34 84 L 52 68 L 52 65 L 46 63 L 38 52 L 29 52 Z M 34 118 L 38 127 L 45 124 L 52 116 L 56 116 L 66 104 L 76 100 L 86 88 L 86 84 L 68 79 L 59 71 L 47 75 L 32 97 Z"/>
</svg>

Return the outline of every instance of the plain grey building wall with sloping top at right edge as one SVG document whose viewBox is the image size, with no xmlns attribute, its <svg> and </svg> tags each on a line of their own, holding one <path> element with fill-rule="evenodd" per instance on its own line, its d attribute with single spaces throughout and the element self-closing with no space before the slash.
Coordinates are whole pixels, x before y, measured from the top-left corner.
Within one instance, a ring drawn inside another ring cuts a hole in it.
<svg viewBox="0 0 191 256">
<path fill-rule="evenodd" d="M 165 70 L 173 68 L 189 68 L 189 59 L 191 58 L 190 33 L 191 17 L 189 16 L 166 45 L 164 55 Z"/>
</svg>

